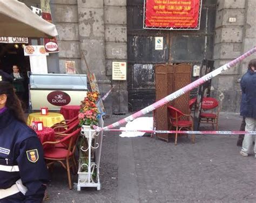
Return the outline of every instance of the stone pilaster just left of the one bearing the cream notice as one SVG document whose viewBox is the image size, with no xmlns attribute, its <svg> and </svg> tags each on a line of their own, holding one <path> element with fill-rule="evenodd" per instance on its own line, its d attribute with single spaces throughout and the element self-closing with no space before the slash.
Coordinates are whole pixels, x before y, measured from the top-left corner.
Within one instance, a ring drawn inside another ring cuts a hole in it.
<svg viewBox="0 0 256 203">
<path fill-rule="evenodd" d="M 100 93 L 111 88 L 105 71 L 104 0 L 78 0 L 78 23 L 82 71 L 86 73 L 84 53 L 90 71 L 95 73 Z M 104 102 L 107 114 L 112 114 L 111 97 Z"/>
</svg>

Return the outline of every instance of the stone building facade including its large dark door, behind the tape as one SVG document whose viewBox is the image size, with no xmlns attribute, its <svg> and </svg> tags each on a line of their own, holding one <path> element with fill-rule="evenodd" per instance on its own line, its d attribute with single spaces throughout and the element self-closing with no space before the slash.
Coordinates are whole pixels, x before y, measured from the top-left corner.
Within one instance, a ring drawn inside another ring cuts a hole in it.
<svg viewBox="0 0 256 203">
<path fill-rule="evenodd" d="M 154 65 L 208 59 L 218 68 L 254 46 L 254 0 L 203 0 L 198 31 L 144 30 L 143 6 L 144 0 L 52 0 L 60 51 L 49 71 L 65 73 L 65 61 L 73 60 L 86 74 L 86 60 L 102 94 L 115 86 L 104 102 L 107 113 L 123 114 L 154 102 Z M 154 37 L 164 37 L 163 50 L 154 49 Z M 222 111 L 239 111 L 239 79 L 250 59 L 212 80 L 211 95 Z M 127 62 L 126 81 L 112 80 L 113 61 Z"/>
</svg>

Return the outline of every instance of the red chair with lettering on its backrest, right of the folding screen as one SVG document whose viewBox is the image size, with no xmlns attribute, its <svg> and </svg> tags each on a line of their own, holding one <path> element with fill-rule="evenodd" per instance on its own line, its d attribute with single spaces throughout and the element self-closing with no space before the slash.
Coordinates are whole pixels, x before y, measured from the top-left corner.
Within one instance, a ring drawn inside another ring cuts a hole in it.
<svg viewBox="0 0 256 203">
<path fill-rule="evenodd" d="M 218 130 L 218 119 L 219 119 L 219 102 L 212 97 L 204 97 L 201 105 L 202 113 L 199 116 L 199 123 L 214 124 L 216 130 Z M 208 113 L 207 111 L 211 111 Z"/>
</svg>

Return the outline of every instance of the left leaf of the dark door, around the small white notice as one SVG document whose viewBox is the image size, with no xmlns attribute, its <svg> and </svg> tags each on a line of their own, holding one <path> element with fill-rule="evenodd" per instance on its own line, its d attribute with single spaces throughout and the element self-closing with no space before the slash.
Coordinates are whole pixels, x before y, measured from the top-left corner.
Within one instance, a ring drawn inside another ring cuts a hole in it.
<svg viewBox="0 0 256 203">
<path fill-rule="evenodd" d="M 127 1 L 128 91 L 131 111 L 156 101 L 154 65 L 169 60 L 169 33 L 143 30 L 143 0 Z M 163 50 L 155 49 L 155 37 L 164 37 Z"/>
</svg>

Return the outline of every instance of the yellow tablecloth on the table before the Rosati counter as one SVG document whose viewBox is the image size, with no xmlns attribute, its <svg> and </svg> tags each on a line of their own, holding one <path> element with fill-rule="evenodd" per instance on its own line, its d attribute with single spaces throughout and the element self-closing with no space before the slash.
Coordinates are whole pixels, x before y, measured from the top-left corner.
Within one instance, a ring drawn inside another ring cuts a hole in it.
<svg viewBox="0 0 256 203">
<path fill-rule="evenodd" d="M 32 121 L 43 121 L 44 127 L 51 127 L 52 125 L 63 120 L 64 120 L 64 116 L 62 114 L 50 112 L 48 113 L 48 115 L 43 116 L 39 112 L 39 113 L 29 114 L 28 121 L 26 122 L 26 124 L 32 125 Z"/>
</svg>

